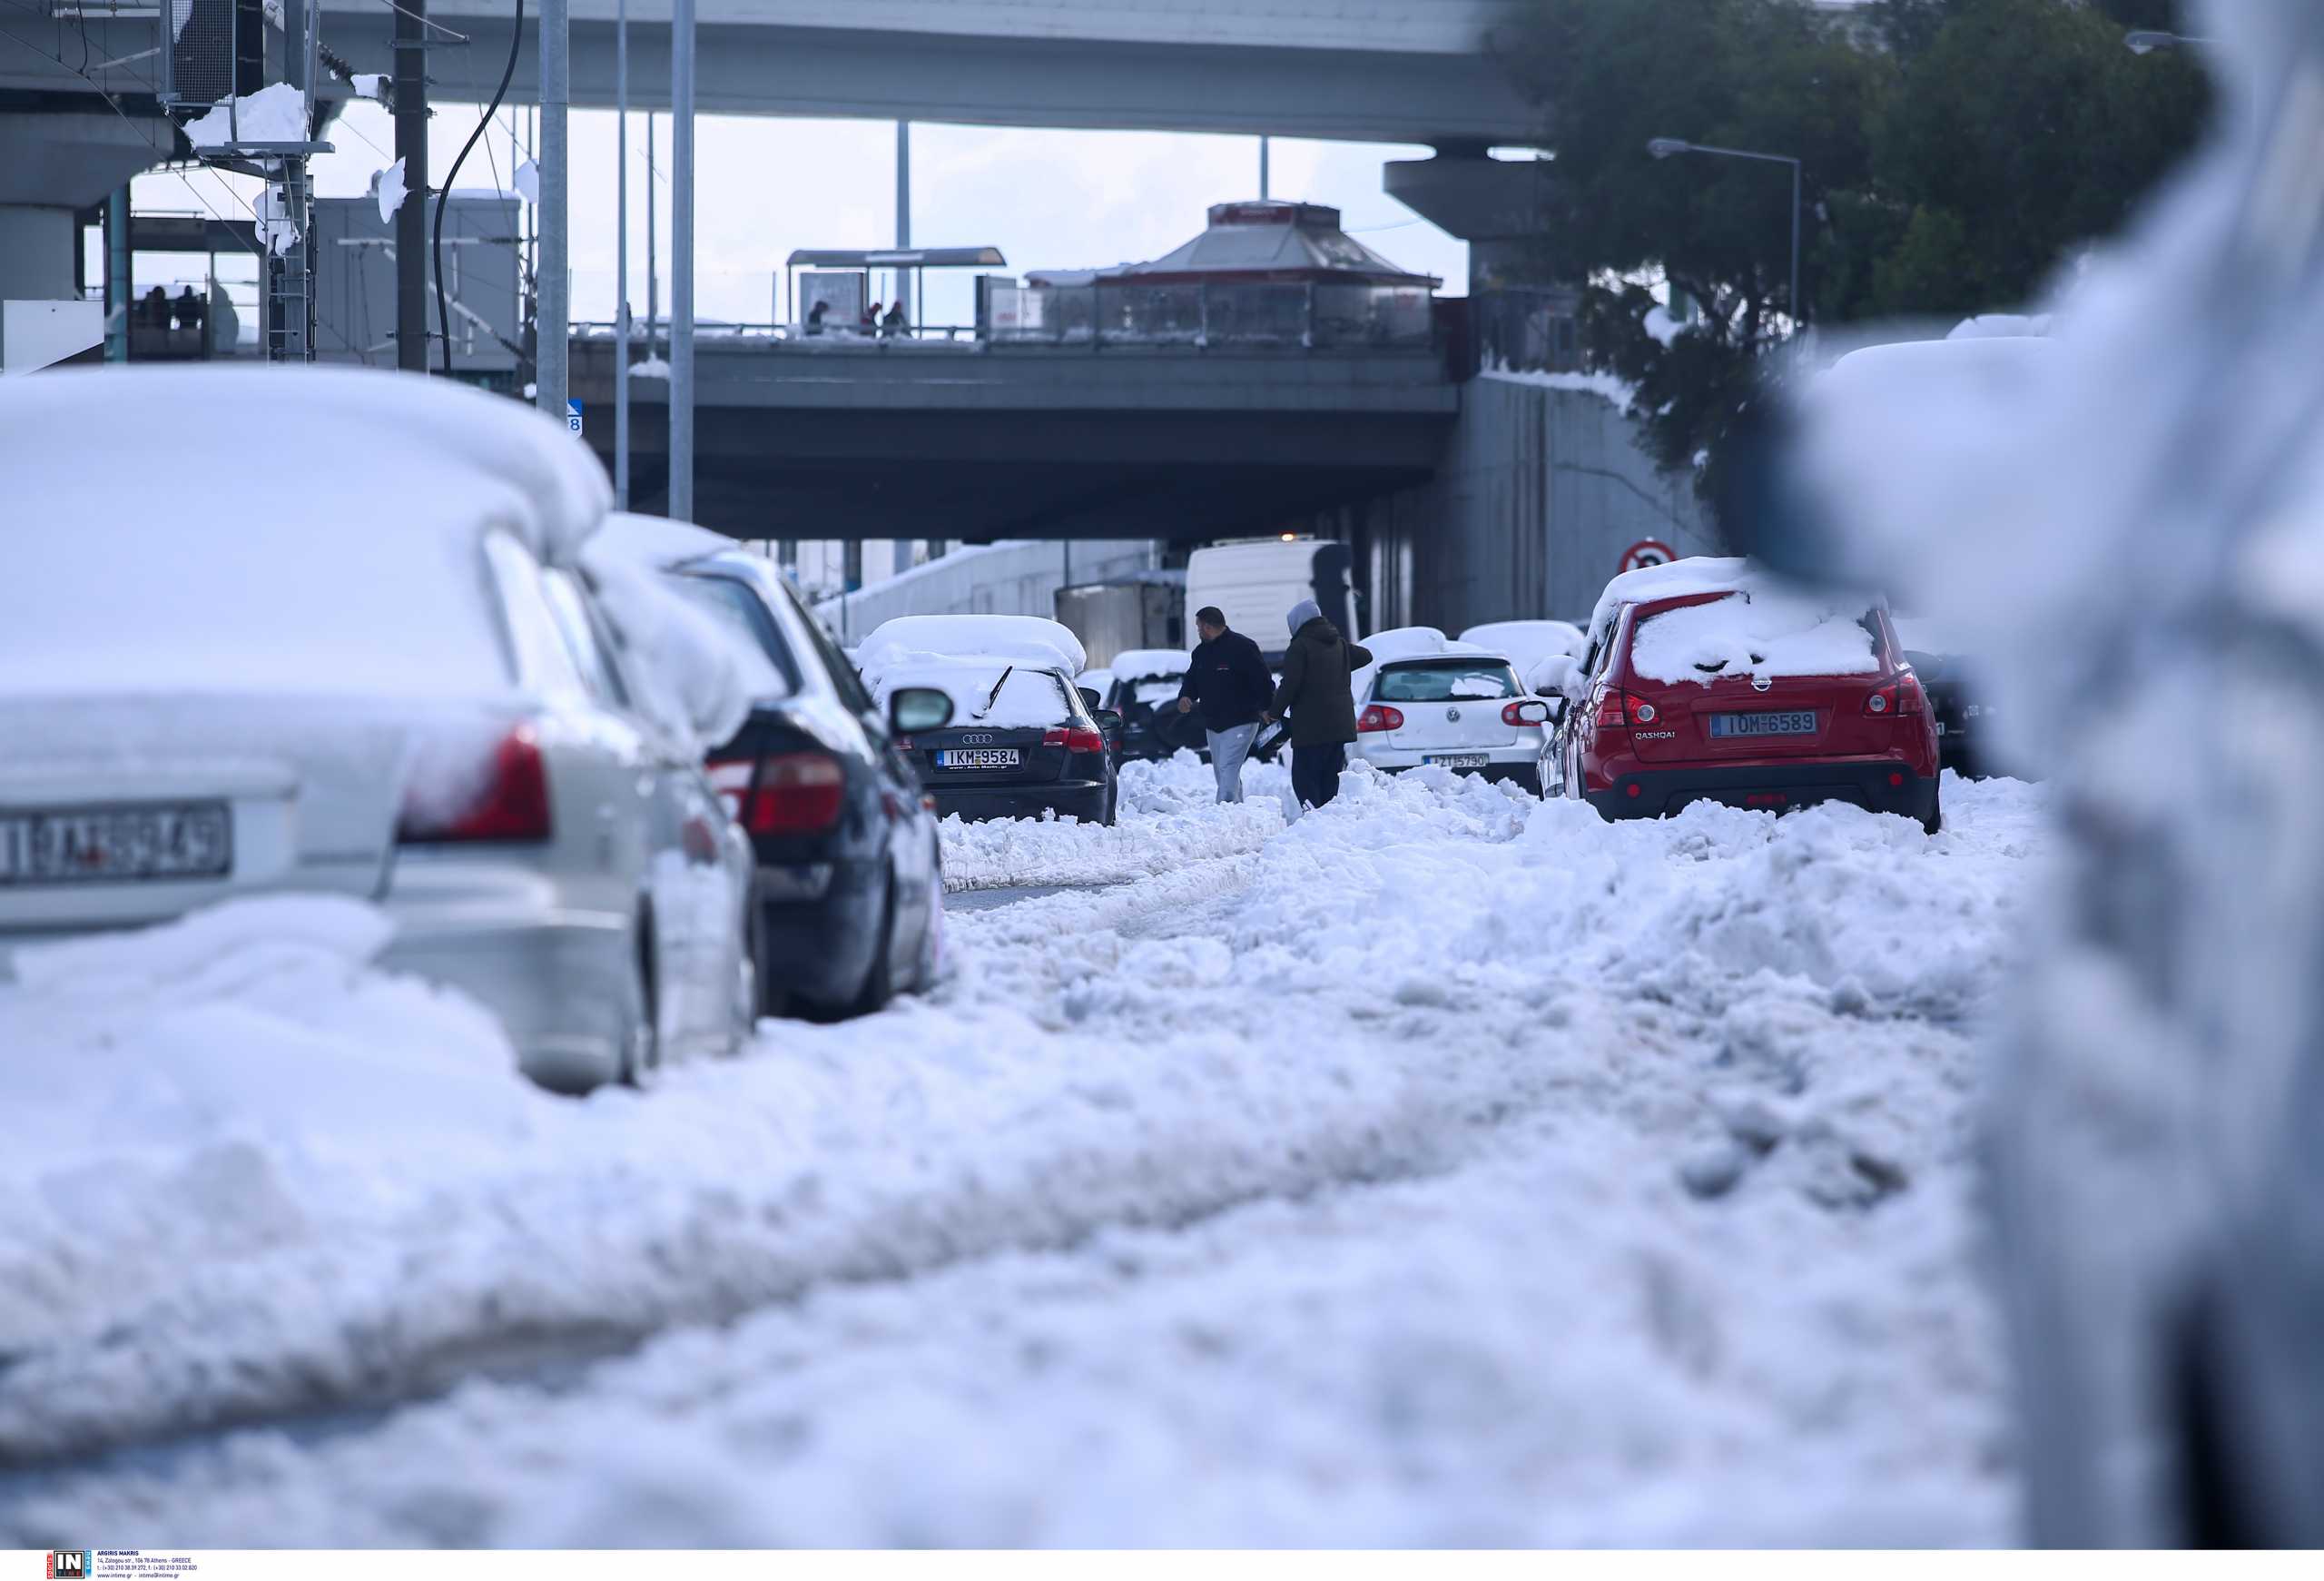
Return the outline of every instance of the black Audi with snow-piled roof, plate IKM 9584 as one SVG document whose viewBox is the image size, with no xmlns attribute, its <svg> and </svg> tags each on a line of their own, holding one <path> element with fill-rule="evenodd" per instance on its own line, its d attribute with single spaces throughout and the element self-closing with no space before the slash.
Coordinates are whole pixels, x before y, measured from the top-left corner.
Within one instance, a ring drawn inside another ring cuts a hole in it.
<svg viewBox="0 0 2324 1581">
<path fill-rule="evenodd" d="M 941 691 L 944 728 L 897 739 L 939 814 L 1113 823 L 1113 746 L 1083 700 L 1081 639 L 1057 621 L 1020 614 L 897 616 L 862 642 L 865 684 L 878 707 L 904 691 Z"/>
</svg>

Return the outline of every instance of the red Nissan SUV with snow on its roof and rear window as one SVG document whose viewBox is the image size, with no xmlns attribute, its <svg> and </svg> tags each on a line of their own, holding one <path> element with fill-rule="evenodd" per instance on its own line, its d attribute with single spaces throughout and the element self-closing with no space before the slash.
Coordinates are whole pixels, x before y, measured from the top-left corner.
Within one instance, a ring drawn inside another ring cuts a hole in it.
<svg viewBox="0 0 2324 1581">
<path fill-rule="evenodd" d="M 1599 604 L 1566 686 L 1564 793 L 1608 818 L 1855 802 L 1934 835 L 1936 723 L 1887 611 L 1834 611 L 1748 579 L 1680 591 L 1687 565 L 1634 572 L 1634 598 L 1624 579 Z"/>
</svg>

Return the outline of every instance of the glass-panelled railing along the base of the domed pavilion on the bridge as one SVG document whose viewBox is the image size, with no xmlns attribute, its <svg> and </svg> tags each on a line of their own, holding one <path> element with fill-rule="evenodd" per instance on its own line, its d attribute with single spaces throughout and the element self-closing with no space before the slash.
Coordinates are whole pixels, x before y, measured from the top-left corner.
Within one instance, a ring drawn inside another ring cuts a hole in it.
<svg viewBox="0 0 2324 1581">
<path fill-rule="evenodd" d="M 1092 284 L 992 286 L 985 339 L 1023 346 L 1434 344 L 1420 286 Z"/>
</svg>

